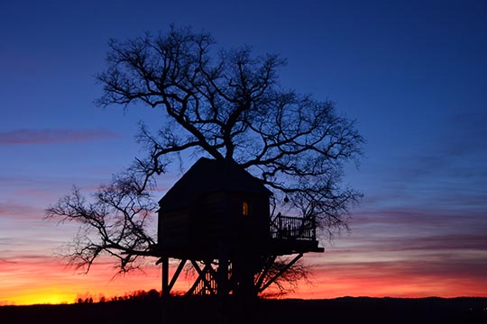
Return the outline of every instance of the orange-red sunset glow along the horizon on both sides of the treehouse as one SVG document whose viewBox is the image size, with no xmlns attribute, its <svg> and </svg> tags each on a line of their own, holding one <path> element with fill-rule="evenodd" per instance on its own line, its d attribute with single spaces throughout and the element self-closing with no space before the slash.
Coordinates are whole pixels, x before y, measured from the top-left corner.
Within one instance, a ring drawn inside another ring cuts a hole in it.
<svg viewBox="0 0 487 324">
<path fill-rule="evenodd" d="M 363 259 L 347 260 L 339 264 L 333 252 L 328 252 L 327 262 L 311 269 L 309 282 L 302 281 L 293 293 L 281 298 L 333 299 L 351 297 L 444 297 L 461 296 L 487 297 L 486 284 L 479 284 L 478 278 L 462 275 L 409 273 L 397 266 L 368 265 Z M 312 263 L 314 257 L 307 260 Z M 316 260 L 316 259 L 315 259 Z M 410 261 L 414 267 L 414 261 Z M 401 265 L 404 266 L 404 265 Z M 175 270 L 176 264 L 172 266 Z M 144 273 L 115 276 L 113 263 L 96 264 L 87 275 L 79 275 L 74 269 L 67 268 L 55 257 L 19 259 L 14 262 L 0 263 L 0 305 L 58 304 L 74 303 L 81 298 L 93 298 L 98 302 L 101 297 L 110 300 L 113 297 L 130 295 L 137 291 L 148 292 L 161 290 L 161 268 L 147 266 Z M 170 274 L 172 275 L 172 274 Z M 193 277 L 185 272 L 179 275 L 173 292 L 186 292 Z M 276 293 L 266 291 L 265 293 Z"/>
</svg>

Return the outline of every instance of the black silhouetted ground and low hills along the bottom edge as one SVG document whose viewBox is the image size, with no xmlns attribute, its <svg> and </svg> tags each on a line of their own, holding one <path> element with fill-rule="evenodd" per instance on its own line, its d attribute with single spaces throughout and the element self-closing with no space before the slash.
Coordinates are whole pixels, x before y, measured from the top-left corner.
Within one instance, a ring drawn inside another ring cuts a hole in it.
<svg viewBox="0 0 487 324">
<path fill-rule="evenodd" d="M 1 323 L 487 323 L 487 298 L 159 299 L 0 307 Z"/>
</svg>

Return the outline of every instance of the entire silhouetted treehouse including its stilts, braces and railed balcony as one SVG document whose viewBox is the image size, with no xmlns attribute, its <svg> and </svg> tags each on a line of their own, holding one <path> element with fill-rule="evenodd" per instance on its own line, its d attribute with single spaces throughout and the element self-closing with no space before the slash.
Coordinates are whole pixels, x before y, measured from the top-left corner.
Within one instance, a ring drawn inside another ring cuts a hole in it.
<svg viewBox="0 0 487 324">
<path fill-rule="evenodd" d="M 314 219 L 271 218 L 269 191 L 234 161 L 200 158 L 159 201 L 158 263 L 162 295 L 183 267 L 198 277 L 187 294 L 256 296 L 304 253 L 318 247 Z M 296 255 L 280 272 L 277 257 Z M 179 265 L 170 278 L 170 259 Z"/>
</svg>

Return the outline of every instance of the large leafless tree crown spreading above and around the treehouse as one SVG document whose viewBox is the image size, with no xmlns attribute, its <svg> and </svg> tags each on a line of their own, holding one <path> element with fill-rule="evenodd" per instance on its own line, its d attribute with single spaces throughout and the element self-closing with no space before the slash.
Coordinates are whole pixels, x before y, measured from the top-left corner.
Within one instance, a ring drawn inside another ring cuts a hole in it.
<svg viewBox="0 0 487 324">
<path fill-rule="evenodd" d="M 138 139 L 147 157 L 96 193 L 95 203 L 75 190 L 47 211 L 85 227 L 74 242 L 73 263 L 89 266 L 107 252 L 126 271 L 137 257 L 151 255 L 154 241 L 144 225 L 154 206 L 147 189 L 183 152 L 234 160 L 272 191 L 274 210 L 285 200 L 302 217 L 312 215 L 323 238 L 347 229 L 349 207 L 361 196 L 341 182 L 345 164 L 361 155 L 363 137 L 354 121 L 333 102 L 280 85 L 286 62 L 278 55 L 215 47 L 208 32 L 173 26 L 109 42 L 96 103 L 144 103 L 165 117 L 155 133 L 142 125 Z"/>
</svg>

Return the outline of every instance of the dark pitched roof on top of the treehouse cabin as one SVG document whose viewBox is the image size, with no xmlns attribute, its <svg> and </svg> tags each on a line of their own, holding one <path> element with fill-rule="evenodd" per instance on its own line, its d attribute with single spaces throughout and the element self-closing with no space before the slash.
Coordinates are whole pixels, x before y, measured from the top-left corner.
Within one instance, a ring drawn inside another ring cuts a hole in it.
<svg viewBox="0 0 487 324">
<path fill-rule="evenodd" d="M 234 161 L 201 157 L 161 198 L 160 210 L 184 209 L 201 194 L 219 191 L 271 194 L 259 179 Z"/>
</svg>

